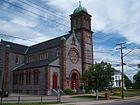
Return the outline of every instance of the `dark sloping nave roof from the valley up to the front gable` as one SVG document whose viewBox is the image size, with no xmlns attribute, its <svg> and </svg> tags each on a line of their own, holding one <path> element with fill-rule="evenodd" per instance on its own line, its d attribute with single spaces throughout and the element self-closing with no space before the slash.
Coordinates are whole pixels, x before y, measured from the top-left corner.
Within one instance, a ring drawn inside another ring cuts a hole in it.
<svg viewBox="0 0 140 105">
<path fill-rule="evenodd" d="M 68 39 L 69 36 L 70 36 L 70 34 L 66 34 L 66 35 L 63 35 L 63 36 L 39 43 L 39 44 L 35 44 L 33 46 L 30 46 L 27 51 L 27 54 L 31 54 L 31 53 L 35 53 L 35 52 L 38 52 L 38 51 L 41 51 L 44 49 L 49 49 L 49 48 L 54 48 L 54 47 L 60 46 L 61 38 L 65 37 L 66 39 Z"/>
</svg>

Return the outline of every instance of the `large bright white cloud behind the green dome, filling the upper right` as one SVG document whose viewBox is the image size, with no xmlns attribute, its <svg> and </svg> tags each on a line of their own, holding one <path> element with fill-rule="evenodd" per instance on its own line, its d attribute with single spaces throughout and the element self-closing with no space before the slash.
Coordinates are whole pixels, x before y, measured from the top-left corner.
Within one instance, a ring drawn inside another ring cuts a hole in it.
<svg viewBox="0 0 140 105">
<path fill-rule="evenodd" d="M 46 0 L 43 0 L 46 1 Z M 140 2 L 138 0 L 81 0 L 82 6 L 92 14 L 94 32 L 119 33 L 128 41 L 140 44 L 139 18 Z M 47 0 L 51 6 L 71 14 L 78 6 L 78 0 Z M 62 4 L 62 5 L 60 5 Z"/>
</svg>

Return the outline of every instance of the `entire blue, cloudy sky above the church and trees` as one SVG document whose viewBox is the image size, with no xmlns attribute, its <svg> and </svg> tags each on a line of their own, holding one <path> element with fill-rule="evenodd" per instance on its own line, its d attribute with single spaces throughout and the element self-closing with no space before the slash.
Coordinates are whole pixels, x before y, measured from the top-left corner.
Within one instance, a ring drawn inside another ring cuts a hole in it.
<svg viewBox="0 0 140 105">
<path fill-rule="evenodd" d="M 79 0 L 0 0 L 1 39 L 33 45 L 70 31 L 70 17 Z M 140 63 L 140 0 L 81 0 L 92 15 L 94 62 L 105 61 L 132 80 Z M 3 35 L 2 35 L 3 34 Z M 11 37 L 12 36 L 12 37 Z"/>
</svg>

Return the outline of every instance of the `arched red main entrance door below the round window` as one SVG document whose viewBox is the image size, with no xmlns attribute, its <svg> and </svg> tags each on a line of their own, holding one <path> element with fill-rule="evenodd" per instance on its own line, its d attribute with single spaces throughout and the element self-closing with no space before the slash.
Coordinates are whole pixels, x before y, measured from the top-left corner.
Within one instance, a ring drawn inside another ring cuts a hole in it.
<svg viewBox="0 0 140 105">
<path fill-rule="evenodd" d="M 71 74 L 71 89 L 76 90 L 79 88 L 79 74 L 77 72 L 73 72 Z"/>
</svg>

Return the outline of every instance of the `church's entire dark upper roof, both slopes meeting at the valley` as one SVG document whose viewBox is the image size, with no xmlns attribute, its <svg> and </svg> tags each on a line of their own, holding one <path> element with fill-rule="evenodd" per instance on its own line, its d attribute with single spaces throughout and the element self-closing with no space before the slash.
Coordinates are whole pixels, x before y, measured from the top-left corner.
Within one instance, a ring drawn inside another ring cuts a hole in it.
<svg viewBox="0 0 140 105">
<path fill-rule="evenodd" d="M 16 54 L 31 54 L 31 53 L 36 53 L 38 51 L 44 50 L 44 49 L 49 49 L 53 47 L 60 46 L 61 43 L 61 38 L 65 37 L 65 39 L 68 39 L 70 34 L 66 34 L 48 41 L 41 42 L 39 44 L 35 44 L 32 46 L 24 46 L 20 44 L 16 44 L 13 42 L 8 42 L 1 40 L 1 42 L 6 46 L 8 45 L 10 47 L 10 51 Z"/>
</svg>

